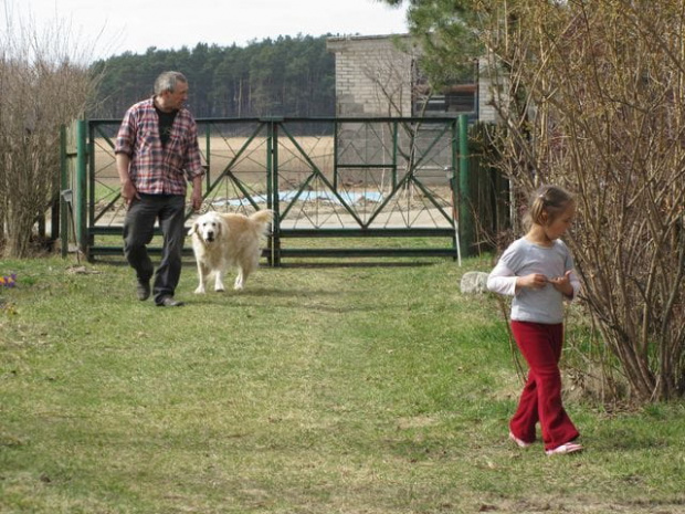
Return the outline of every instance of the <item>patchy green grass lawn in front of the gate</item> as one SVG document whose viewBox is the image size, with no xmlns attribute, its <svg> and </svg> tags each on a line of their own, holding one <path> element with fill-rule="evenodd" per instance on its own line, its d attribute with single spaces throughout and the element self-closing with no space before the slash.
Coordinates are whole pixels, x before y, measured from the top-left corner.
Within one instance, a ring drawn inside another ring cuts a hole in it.
<svg viewBox="0 0 685 514">
<path fill-rule="evenodd" d="M 459 287 L 489 259 L 424 263 L 196 296 L 189 262 L 159 308 L 120 262 L 1 262 L 0 512 L 685 512 L 685 403 L 569 400 L 584 453 L 514 447 L 506 326 Z"/>
</svg>

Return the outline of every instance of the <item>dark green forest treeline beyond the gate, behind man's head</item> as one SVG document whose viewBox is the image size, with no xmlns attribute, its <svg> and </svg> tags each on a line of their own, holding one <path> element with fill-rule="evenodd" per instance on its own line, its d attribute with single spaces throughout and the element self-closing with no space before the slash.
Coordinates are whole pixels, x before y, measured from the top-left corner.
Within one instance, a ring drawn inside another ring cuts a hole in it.
<svg viewBox="0 0 685 514">
<path fill-rule="evenodd" d="M 182 72 L 190 82 L 188 105 L 196 117 L 333 116 L 335 56 L 328 35 L 278 36 L 246 46 L 199 43 L 192 50 L 130 52 L 101 60 L 102 75 L 89 118 L 120 118 L 152 94 L 157 75 Z"/>
</svg>

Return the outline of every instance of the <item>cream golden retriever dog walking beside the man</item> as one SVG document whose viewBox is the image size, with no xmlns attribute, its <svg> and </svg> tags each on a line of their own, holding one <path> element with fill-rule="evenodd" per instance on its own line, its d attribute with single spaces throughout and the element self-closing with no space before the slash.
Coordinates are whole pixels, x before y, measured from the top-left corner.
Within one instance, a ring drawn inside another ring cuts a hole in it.
<svg viewBox="0 0 685 514">
<path fill-rule="evenodd" d="M 214 291 L 222 292 L 223 277 L 231 266 L 238 268 L 233 287 L 245 286 L 247 276 L 260 264 L 262 242 L 273 218 L 271 209 L 244 214 L 207 212 L 194 220 L 188 235 L 198 264 L 200 284 L 196 294 L 204 294 L 204 285 L 214 275 Z"/>
</svg>

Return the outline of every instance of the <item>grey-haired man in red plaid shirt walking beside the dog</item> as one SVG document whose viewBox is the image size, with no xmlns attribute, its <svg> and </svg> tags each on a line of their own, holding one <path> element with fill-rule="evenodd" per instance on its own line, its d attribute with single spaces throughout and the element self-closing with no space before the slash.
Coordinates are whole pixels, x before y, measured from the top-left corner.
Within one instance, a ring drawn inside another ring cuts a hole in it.
<svg viewBox="0 0 685 514">
<path fill-rule="evenodd" d="M 155 81 L 151 98 L 131 106 L 117 134 L 115 155 L 122 197 L 128 207 L 124 221 L 124 254 L 136 270 L 138 300 L 150 296 L 152 261 L 147 244 L 155 221 L 164 234 L 161 261 L 152 294 L 160 307 L 183 305 L 173 297 L 181 275 L 186 239 L 186 180 L 192 182 L 192 208 L 202 206 L 202 177 L 198 130 L 183 107 L 188 81 L 179 72 L 164 72 Z"/>
</svg>

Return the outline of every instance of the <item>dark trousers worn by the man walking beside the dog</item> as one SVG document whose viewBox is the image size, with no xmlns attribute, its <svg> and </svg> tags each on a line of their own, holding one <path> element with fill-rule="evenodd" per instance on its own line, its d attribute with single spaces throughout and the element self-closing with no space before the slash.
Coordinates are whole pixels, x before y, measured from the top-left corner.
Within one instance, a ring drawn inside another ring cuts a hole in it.
<svg viewBox="0 0 685 514">
<path fill-rule="evenodd" d="M 139 281 L 149 281 L 155 268 L 147 245 L 155 235 L 155 222 L 164 235 L 161 261 L 155 273 L 152 295 L 159 304 L 164 296 L 173 296 L 181 276 L 181 259 L 186 241 L 186 198 L 180 195 L 140 195 L 134 199 L 124 220 L 124 255 L 136 270 Z"/>
</svg>

